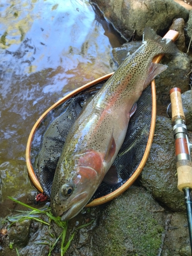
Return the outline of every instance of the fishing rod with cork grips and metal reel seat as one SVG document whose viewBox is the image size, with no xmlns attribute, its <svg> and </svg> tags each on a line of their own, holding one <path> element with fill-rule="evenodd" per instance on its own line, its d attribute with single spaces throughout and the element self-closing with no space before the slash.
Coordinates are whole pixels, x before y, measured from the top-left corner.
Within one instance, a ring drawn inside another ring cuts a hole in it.
<svg viewBox="0 0 192 256">
<path fill-rule="evenodd" d="M 192 144 L 188 140 L 185 115 L 183 112 L 181 90 L 173 88 L 170 90 L 170 101 L 172 103 L 172 125 L 175 138 L 175 155 L 177 162 L 178 189 L 184 192 L 185 206 L 192 254 L 192 162 L 190 151 Z"/>
</svg>

